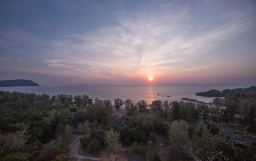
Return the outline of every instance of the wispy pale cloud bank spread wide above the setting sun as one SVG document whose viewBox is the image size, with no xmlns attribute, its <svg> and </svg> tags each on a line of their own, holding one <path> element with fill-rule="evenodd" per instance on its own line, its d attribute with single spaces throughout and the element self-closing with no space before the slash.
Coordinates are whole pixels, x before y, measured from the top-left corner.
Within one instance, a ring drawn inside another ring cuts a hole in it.
<svg viewBox="0 0 256 161">
<path fill-rule="evenodd" d="M 79 8 L 60 3 L 70 12 Z M 250 47 L 239 53 L 243 42 L 237 38 L 255 29 L 255 12 L 238 4 L 225 9 L 224 3 L 175 1 L 148 4 L 142 10 L 120 5 L 112 11 L 118 24 L 62 33 L 47 41 L 24 31 L 0 30 L 0 61 L 28 72 L 119 80 L 220 71 L 224 75 L 237 64 L 241 71 L 251 71 L 255 47 L 247 44 Z M 240 57 L 245 60 L 239 62 Z"/>
</svg>

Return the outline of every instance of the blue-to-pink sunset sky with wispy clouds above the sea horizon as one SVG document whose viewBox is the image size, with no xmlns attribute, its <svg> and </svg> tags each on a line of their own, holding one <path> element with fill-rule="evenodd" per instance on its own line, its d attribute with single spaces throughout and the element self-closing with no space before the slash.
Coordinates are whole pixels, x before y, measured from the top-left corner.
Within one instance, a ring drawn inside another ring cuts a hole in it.
<svg viewBox="0 0 256 161">
<path fill-rule="evenodd" d="M 0 80 L 256 84 L 255 62 L 253 0 L 0 1 Z"/>
</svg>

